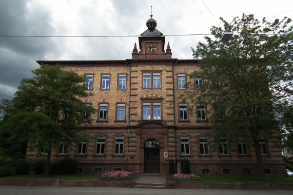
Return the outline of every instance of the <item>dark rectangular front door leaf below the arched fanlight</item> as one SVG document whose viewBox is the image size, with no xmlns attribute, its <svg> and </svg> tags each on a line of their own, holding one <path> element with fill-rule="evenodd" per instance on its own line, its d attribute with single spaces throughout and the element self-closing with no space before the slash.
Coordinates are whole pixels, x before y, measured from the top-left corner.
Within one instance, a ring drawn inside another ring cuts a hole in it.
<svg viewBox="0 0 293 195">
<path fill-rule="evenodd" d="M 145 148 L 144 149 L 144 172 L 159 173 L 160 172 L 160 149 Z"/>
</svg>

